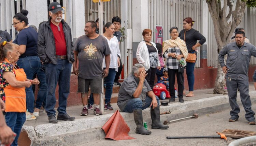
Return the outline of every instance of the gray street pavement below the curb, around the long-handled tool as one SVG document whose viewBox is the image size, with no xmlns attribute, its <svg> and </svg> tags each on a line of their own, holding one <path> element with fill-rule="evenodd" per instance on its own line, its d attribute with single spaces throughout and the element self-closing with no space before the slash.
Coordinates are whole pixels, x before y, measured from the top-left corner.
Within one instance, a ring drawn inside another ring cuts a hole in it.
<svg viewBox="0 0 256 146">
<path fill-rule="evenodd" d="M 256 104 L 252 109 L 256 111 Z M 215 131 L 222 132 L 225 129 L 237 129 L 246 131 L 256 131 L 256 125 L 249 125 L 245 120 L 245 111 L 241 108 L 239 120 L 236 122 L 228 122 L 230 110 L 218 111 L 211 114 L 199 116 L 198 118 L 183 120 L 180 122 L 169 124 L 168 130 L 151 129 L 151 135 L 141 135 L 130 133 L 129 135 L 137 138 L 136 140 L 114 141 L 102 139 L 84 145 L 111 145 L 111 146 L 227 146 L 235 139 L 228 138 L 228 142 L 223 139 L 173 139 L 167 140 L 166 136 L 197 136 L 197 135 L 217 135 Z M 256 145 L 256 143 L 254 143 Z"/>
</svg>

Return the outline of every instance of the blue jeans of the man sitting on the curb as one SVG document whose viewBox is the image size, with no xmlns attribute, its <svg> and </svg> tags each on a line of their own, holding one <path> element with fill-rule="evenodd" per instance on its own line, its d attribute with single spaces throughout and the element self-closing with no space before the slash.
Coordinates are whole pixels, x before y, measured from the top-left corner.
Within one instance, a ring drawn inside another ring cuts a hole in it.
<svg viewBox="0 0 256 146">
<path fill-rule="evenodd" d="M 156 96 L 156 101 L 157 101 L 157 105 L 159 105 L 159 98 Z M 144 101 L 142 101 L 140 98 L 132 98 L 130 99 L 123 112 L 129 112 L 129 113 L 132 113 L 133 110 L 137 110 L 137 109 L 146 109 L 150 106 L 152 102 L 152 98 L 146 96 L 146 99 Z"/>
</svg>

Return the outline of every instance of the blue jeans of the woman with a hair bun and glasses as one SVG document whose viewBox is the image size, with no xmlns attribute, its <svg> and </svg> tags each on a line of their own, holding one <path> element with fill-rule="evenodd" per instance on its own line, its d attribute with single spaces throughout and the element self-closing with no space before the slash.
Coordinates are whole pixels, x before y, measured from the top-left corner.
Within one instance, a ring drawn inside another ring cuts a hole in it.
<svg viewBox="0 0 256 146">
<path fill-rule="evenodd" d="M 23 68 L 28 79 L 33 79 L 33 76 L 39 70 L 41 62 L 38 56 L 27 56 L 19 58 L 17 65 L 19 68 Z M 35 96 L 32 90 L 32 86 L 26 88 L 26 106 L 30 113 L 34 112 Z"/>
</svg>

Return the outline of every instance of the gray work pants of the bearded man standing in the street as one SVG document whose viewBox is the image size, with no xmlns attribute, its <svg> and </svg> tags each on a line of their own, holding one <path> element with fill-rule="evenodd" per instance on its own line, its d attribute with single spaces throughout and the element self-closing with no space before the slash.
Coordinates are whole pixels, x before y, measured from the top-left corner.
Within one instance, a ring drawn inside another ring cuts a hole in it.
<svg viewBox="0 0 256 146">
<path fill-rule="evenodd" d="M 255 120 L 255 112 L 252 110 L 251 98 L 249 95 L 249 82 L 248 80 L 234 80 L 226 78 L 226 86 L 228 90 L 229 104 L 231 106 L 230 115 L 239 118 L 238 113 L 240 108 L 237 104 L 237 88 L 240 92 L 241 102 L 246 112 L 245 118 L 248 121 Z"/>
</svg>

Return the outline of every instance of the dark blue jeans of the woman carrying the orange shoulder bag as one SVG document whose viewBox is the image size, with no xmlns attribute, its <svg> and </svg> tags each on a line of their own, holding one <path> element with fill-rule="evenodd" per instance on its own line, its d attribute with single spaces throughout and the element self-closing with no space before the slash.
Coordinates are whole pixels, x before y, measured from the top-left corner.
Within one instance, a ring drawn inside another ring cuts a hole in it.
<svg viewBox="0 0 256 146">
<path fill-rule="evenodd" d="M 186 66 L 186 74 L 187 74 L 187 82 L 189 91 L 194 91 L 194 83 L 195 83 L 195 76 L 194 76 L 194 69 L 196 63 L 187 62 Z"/>
</svg>

